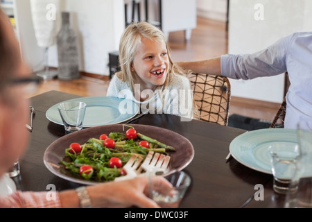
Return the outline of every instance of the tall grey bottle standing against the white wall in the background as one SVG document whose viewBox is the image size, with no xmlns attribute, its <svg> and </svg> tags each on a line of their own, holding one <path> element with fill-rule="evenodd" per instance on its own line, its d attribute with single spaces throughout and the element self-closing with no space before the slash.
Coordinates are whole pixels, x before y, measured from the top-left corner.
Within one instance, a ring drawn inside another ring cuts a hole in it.
<svg viewBox="0 0 312 222">
<path fill-rule="evenodd" d="M 70 25 L 69 12 L 62 12 L 62 27 L 56 37 L 58 46 L 58 78 L 79 78 L 79 56 L 76 33 Z"/>
</svg>

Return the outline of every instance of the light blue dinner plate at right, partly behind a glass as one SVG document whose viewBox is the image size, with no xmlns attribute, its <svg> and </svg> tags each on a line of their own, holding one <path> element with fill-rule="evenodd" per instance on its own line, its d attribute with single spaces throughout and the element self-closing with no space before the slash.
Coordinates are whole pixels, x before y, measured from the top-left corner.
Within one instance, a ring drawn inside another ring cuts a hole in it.
<svg viewBox="0 0 312 222">
<path fill-rule="evenodd" d="M 229 145 L 229 152 L 235 160 L 246 167 L 272 174 L 268 146 L 274 143 L 296 146 L 296 130 L 285 128 L 252 130 L 233 139 Z"/>
</svg>

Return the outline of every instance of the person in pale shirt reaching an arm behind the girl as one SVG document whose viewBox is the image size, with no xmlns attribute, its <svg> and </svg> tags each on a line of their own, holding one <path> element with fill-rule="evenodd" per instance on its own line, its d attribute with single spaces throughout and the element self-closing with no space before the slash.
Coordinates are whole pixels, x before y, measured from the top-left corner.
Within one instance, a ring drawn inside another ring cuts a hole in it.
<svg viewBox="0 0 312 222">
<path fill-rule="evenodd" d="M 297 128 L 300 118 L 312 121 L 312 32 L 293 33 L 256 53 L 177 64 L 198 73 L 244 80 L 287 72 L 291 85 L 284 127 Z"/>
</svg>

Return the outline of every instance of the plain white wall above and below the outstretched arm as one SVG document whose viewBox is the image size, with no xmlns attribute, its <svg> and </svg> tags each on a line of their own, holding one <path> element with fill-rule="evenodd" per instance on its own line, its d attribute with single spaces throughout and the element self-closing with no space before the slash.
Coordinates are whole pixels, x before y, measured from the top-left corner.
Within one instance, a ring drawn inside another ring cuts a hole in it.
<svg viewBox="0 0 312 222">
<path fill-rule="evenodd" d="M 257 3 L 263 6 L 261 14 L 258 14 L 261 9 L 254 8 Z M 295 31 L 311 31 L 311 8 L 311 0 L 231 0 L 229 53 L 252 53 Z M 276 103 L 284 96 L 284 74 L 230 82 L 232 96 Z"/>
</svg>

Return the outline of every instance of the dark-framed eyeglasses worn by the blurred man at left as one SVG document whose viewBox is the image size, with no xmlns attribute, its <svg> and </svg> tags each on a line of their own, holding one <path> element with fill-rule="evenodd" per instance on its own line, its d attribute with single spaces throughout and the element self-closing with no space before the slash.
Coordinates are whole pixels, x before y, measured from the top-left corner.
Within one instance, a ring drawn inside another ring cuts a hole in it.
<svg viewBox="0 0 312 222">
<path fill-rule="evenodd" d="M 33 94 L 37 89 L 37 85 L 42 82 L 40 76 L 30 76 L 24 78 L 12 78 L 9 83 L 12 85 L 19 85 L 26 94 Z"/>
</svg>

